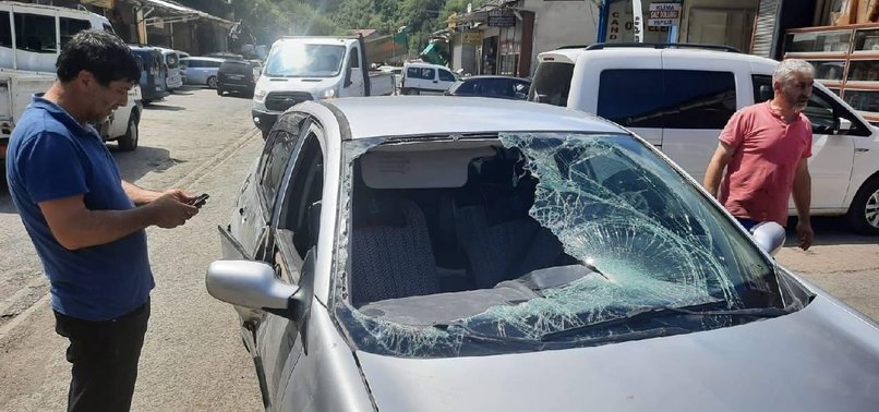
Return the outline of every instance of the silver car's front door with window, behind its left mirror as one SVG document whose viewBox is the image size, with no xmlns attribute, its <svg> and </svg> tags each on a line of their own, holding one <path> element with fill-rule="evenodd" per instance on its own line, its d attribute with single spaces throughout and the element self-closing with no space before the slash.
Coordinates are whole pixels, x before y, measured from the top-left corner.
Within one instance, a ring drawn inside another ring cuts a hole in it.
<svg viewBox="0 0 879 412">
<path fill-rule="evenodd" d="M 303 267 L 309 252 L 316 253 L 313 251 L 320 235 L 325 161 L 322 140 L 322 130 L 312 123 L 296 149 L 288 184 L 282 185 L 286 193 L 278 199 L 278 213 L 273 219 L 270 252 L 266 256 L 281 281 L 296 283 L 303 290 L 313 290 L 314 286 L 314 270 L 303 270 Z M 266 391 L 274 404 L 284 395 L 287 381 L 297 373 L 294 366 L 304 355 L 301 324 L 264 313 L 255 329 Z"/>
</svg>

